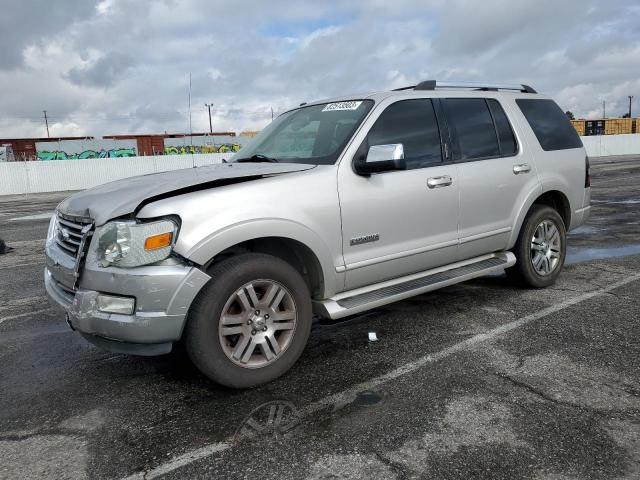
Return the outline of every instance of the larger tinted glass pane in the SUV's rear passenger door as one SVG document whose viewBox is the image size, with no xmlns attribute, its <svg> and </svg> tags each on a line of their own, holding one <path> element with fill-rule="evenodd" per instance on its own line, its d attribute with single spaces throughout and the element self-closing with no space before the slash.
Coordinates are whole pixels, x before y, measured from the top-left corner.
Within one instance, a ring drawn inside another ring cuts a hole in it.
<svg viewBox="0 0 640 480">
<path fill-rule="evenodd" d="M 484 98 L 446 98 L 443 103 L 461 159 L 500 156 L 496 129 Z"/>
</svg>

